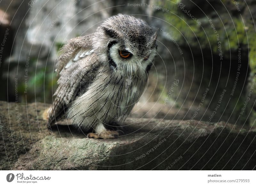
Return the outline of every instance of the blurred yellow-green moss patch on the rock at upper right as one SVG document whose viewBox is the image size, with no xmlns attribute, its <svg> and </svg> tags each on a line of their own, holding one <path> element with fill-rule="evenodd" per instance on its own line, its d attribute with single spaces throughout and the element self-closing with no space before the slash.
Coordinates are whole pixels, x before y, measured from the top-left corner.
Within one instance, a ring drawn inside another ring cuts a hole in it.
<svg viewBox="0 0 256 186">
<path fill-rule="evenodd" d="M 167 25 L 166 31 L 171 33 L 172 37 L 178 41 L 180 45 L 187 44 L 187 40 L 191 47 L 199 47 L 200 43 L 202 48 L 209 48 L 210 42 L 213 52 L 217 53 L 218 41 L 216 38 L 216 33 L 214 33 L 208 19 L 205 16 L 202 18 L 196 18 L 195 16 L 195 18 L 202 23 L 199 25 L 195 20 L 191 19 L 188 15 L 182 12 L 180 7 L 178 7 L 179 1 L 175 1 L 175 3 L 166 1 L 164 5 L 170 10 L 168 13 L 164 13 L 165 20 L 170 23 L 164 24 Z M 184 10 L 186 10 L 186 7 Z M 211 18 L 209 17 L 209 19 Z M 239 46 L 238 43 L 240 45 L 247 44 L 246 31 L 244 28 L 243 20 L 240 17 L 233 17 L 232 20 L 234 23 L 230 21 L 229 17 L 221 17 L 221 20 L 219 18 L 212 19 L 214 27 L 217 30 L 217 34 L 220 36 L 222 50 L 226 53 L 229 53 L 229 50 L 236 51 Z M 252 39 L 252 42 L 254 42 L 251 44 L 256 45 L 256 39 L 255 37 L 252 37 L 253 33 L 248 32 L 247 34 L 248 38 Z M 185 38 L 183 38 L 183 36 Z M 253 59 L 256 57 L 255 50 L 256 47 L 252 46 L 250 57 Z"/>
</svg>

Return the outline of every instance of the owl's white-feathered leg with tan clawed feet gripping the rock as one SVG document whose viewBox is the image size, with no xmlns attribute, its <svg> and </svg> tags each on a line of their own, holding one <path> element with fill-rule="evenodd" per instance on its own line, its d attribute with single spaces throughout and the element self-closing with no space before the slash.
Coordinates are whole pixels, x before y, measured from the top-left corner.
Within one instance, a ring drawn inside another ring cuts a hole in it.
<svg viewBox="0 0 256 186">
<path fill-rule="evenodd" d="M 119 136 L 119 133 L 115 130 L 108 130 L 104 127 L 103 123 L 99 123 L 94 128 L 94 133 L 88 133 L 88 138 L 103 138 L 103 139 L 114 139 L 115 136 Z"/>
</svg>

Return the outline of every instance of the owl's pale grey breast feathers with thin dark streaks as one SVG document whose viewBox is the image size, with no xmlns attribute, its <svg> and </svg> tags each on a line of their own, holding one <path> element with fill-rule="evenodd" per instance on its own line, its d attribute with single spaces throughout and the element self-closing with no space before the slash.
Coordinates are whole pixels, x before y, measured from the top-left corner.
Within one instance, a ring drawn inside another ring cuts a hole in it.
<svg viewBox="0 0 256 186">
<path fill-rule="evenodd" d="M 146 83 L 146 73 L 130 76 L 100 67 L 88 88 L 68 105 L 66 117 L 85 131 L 95 127 L 98 121 L 123 121 L 140 99 Z"/>
</svg>

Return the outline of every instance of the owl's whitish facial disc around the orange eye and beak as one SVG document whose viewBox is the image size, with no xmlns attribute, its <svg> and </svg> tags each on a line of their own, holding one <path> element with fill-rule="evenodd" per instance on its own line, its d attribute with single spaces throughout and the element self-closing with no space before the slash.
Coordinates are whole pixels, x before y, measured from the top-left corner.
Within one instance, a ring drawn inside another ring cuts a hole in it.
<svg viewBox="0 0 256 186">
<path fill-rule="evenodd" d="M 147 71 L 155 57 L 153 50 L 148 50 L 145 56 L 137 55 L 128 47 L 114 43 L 109 48 L 109 64 L 114 71 L 124 70 L 128 74 L 140 74 Z"/>
</svg>

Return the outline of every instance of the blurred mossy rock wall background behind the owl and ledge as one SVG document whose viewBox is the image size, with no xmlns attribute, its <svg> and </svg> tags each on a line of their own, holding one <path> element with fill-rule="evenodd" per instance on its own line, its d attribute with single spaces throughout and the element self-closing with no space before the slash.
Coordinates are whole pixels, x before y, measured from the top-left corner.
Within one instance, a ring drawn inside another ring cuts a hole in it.
<svg viewBox="0 0 256 186">
<path fill-rule="evenodd" d="M 158 33 L 158 55 L 131 117 L 254 124 L 254 0 L 2 0 L 0 100 L 52 103 L 60 47 L 117 13 Z"/>
</svg>

